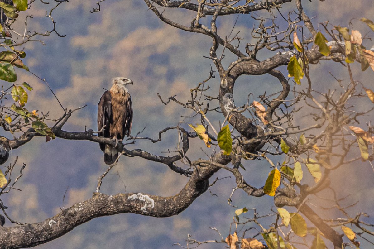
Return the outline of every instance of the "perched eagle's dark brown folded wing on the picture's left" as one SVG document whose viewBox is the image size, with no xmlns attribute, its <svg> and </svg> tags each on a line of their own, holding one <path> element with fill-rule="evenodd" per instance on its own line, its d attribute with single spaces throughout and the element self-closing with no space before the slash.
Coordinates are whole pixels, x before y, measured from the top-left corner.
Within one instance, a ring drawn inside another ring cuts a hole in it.
<svg viewBox="0 0 374 249">
<path fill-rule="evenodd" d="M 110 137 L 111 109 L 111 94 L 110 91 L 105 91 L 97 105 L 97 129 L 101 130 L 105 125 L 104 131 L 99 132 L 98 135 L 104 138 Z M 99 145 L 100 149 L 104 151 L 105 144 L 99 143 Z"/>
</svg>

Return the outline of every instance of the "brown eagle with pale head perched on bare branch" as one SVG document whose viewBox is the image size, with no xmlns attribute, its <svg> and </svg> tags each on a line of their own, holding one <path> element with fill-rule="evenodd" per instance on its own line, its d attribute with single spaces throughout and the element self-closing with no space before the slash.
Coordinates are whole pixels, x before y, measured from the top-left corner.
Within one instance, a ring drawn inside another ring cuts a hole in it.
<svg viewBox="0 0 374 249">
<path fill-rule="evenodd" d="M 127 84 L 132 80 L 124 77 L 114 77 L 110 90 L 101 96 L 97 110 L 98 135 L 122 141 L 125 136 L 130 136 L 132 125 L 132 104 Z M 104 127 L 105 126 L 105 127 Z M 116 162 L 118 150 L 115 146 L 99 143 L 104 151 L 104 162 L 111 165 Z"/>
</svg>

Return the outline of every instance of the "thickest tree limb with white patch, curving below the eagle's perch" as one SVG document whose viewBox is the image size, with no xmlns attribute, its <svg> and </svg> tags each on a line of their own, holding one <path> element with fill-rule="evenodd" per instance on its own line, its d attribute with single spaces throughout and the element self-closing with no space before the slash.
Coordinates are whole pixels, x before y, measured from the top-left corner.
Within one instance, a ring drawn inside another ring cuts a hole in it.
<svg viewBox="0 0 374 249">
<path fill-rule="evenodd" d="M 214 156 L 213 161 L 226 165 L 230 158 L 220 153 Z M 43 222 L 9 228 L 0 227 L 0 249 L 37 246 L 61 237 L 74 227 L 100 216 L 117 213 L 138 213 L 154 217 L 176 215 L 208 190 L 208 179 L 219 169 L 220 167 L 214 165 L 197 166 L 186 186 L 175 196 L 161 197 L 144 193 L 108 196 L 99 193 Z"/>
</svg>

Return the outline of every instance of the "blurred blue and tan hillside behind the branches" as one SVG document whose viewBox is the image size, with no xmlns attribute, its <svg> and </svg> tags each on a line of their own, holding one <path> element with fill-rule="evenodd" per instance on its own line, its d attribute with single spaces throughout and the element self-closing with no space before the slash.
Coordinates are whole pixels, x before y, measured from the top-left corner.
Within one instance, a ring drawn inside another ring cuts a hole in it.
<svg viewBox="0 0 374 249">
<path fill-rule="evenodd" d="M 24 62 L 33 73 L 47 80 L 64 107 L 75 109 L 88 105 L 76 111 L 64 126 L 65 130 L 70 131 L 83 131 L 85 126 L 87 129 L 96 130 L 97 103 L 104 92 L 103 88 L 110 88 L 112 77 L 132 79 L 134 84 L 129 86 L 134 108 L 132 135 L 145 127 L 141 136 L 157 138 L 159 130 L 183 121 L 181 115 L 193 114 L 174 103 L 163 105 L 157 93 L 164 99 L 173 95 L 183 101 L 188 99 L 189 89 L 209 76 L 212 62 L 203 58 L 203 55 L 209 56 L 211 40 L 201 34 L 187 33 L 163 24 L 141 0 L 106 0 L 101 3 L 100 12 L 90 13 L 92 8 L 97 7 L 95 2 L 96 0 L 70 0 L 68 3 L 62 3 L 53 11 L 53 18 L 58 33 L 66 37 L 58 37 L 52 33 L 48 37 L 41 37 L 46 43 L 45 46 L 39 42 L 27 43 L 24 46 L 27 54 Z M 55 4 L 53 1 L 50 3 Z M 312 21 L 315 27 L 324 21 L 347 27 L 352 18 L 374 19 L 374 4 L 370 0 L 313 0 L 311 3 L 304 0 L 303 4 L 306 13 L 314 17 Z M 281 9 L 283 14 L 295 8 L 294 2 L 287 6 L 289 9 Z M 29 30 L 52 30 L 52 22 L 45 16 L 50 7 L 39 1 L 34 2 L 31 9 L 25 12 L 27 15 L 33 15 L 33 19 L 28 21 Z M 189 24 L 193 16 L 191 12 L 180 10 L 167 10 L 165 13 L 170 19 L 184 24 Z M 268 12 L 263 14 L 269 16 Z M 278 15 L 277 12 L 274 14 Z M 221 18 L 218 22 L 219 32 L 228 35 L 236 17 Z M 18 21 L 21 30 L 23 27 L 20 20 L 21 18 Z M 282 25 L 282 19 L 279 18 L 278 21 Z M 368 31 L 364 24 L 355 20 L 352 22 L 355 29 L 361 29 L 362 34 Z M 245 44 L 251 40 L 250 30 L 253 25 L 253 19 L 241 15 L 233 33 L 240 30 L 239 36 L 244 39 Z M 231 58 L 228 58 L 226 63 L 231 61 Z M 342 70 L 341 65 L 335 67 L 328 62 L 311 67 L 311 76 L 315 82 L 321 83 L 321 89 L 334 82 L 328 71 L 332 71 L 340 79 L 348 79 L 346 71 L 339 71 Z M 286 66 L 283 69 L 285 68 Z M 355 79 L 373 89 L 374 72 L 367 70 L 361 73 L 359 64 L 354 65 L 353 69 Z M 34 87 L 29 95 L 28 110 L 35 109 L 43 113 L 50 111 L 52 118 L 62 115 L 61 107 L 45 83 L 25 71 L 18 70 L 17 73 L 19 82 L 28 82 Z M 220 83 L 218 75 L 216 76 L 208 82 L 213 96 L 218 94 Z M 242 78 L 235 86 L 237 106 L 246 103 L 249 93 L 258 96 L 265 91 L 272 93 L 279 90 L 279 83 L 270 76 Z M 212 119 L 218 125 L 218 120 L 222 121 L 224 118 L 218 114 Z M 370 117 L 368 119 L 370 120 Z M 199 119 L 195 117 L 184 121 L 195 124 Z M 161 142 L 152 144 L 147 140 L 138 140 L 127 148 L 142 148 L 155 154 L 166 154 L 168 149 L 175 149 L 177 142 L 178 133 L 169 131 L 162 135 Z M 200 154 L 203 157 L 200 147 L 203 147 L 203 143 L 199 139 L 191 139 L 189 153 L 195 153 L 196 158 Z M 203 149 L 212 153 L 212 150 Z M 22 222 L 42 221 L 60 212 L 67 187 L 65 207 L 89 199 L 96 189 L 98 176 L 106 169 L 98 144 L 89 141 L 56 138 L 46 143 L 45 138 L 34 138 L 28 144 L 12 151 L 13 159 L 16 156 L 19 156 L 19 166 L 22 163 L 27 164 L 24 176 L 15 186 L 22 191 L 7 194 L 4 197 L 4 205 L 9 207 L 9 215 L 13 219 Z M 279 157 L 277 160 L 282 159 Z M 7 163 L 9 162 L 10 159 Z M 257 160 L 245 161 L 243 165 L 246 167 L 243 174 L 250 179 L 252 185 L 263 186 L 270 165 Z M 229 172 L 221 170 L 214 178 L 225 176 L 230 176 Z M 359 200 L 359 203 L 350 209 L 353 216 L 360 211 L 374 214 L 373 177 L 373 170 L 368 163 L 344 167 L 333 176 L 332 184 L 341 185 L 341 192 L 338 194 L 350 194 L 347 203 Z M 104 178 L 101 191 L 105 194 L 126 191 L 171 196 L 178 193 L 187 180 L 185 176 L 172 172 L 165 165 L 140 158 L 121 157 L 111 175 Z M 218 196 L 207 191 L 180 215 L 152 218 L 120 214 L 96 218 L 37 248 L 178 248 L 173 244 L 186 245 L 184 240 L 187 239 L 187 234 L 197 240 L 219 240 L 217 233 L 209 227 L 217 228 L 224 237 L 229 234 L 235 208 L 227 205 L 227 198 L 234 187 L 234 179 L 225 178 L 210 188 L 211 192 Z M 248 197 L 240 190 L 236 191 L 232 200 L 233 205 L 239 207 L 256 207 L 260 215 L 270 213 L 270 207 L 273 205 L 272 197 Z M 316 209 L 318 210 L 318 207 Z M 251 216 L 251 212 L 249 211 L 247 216 Z M 266 220 L 263 221 L 264 225 L 267 225 Z M 6 226 L 10 225 L 9 222 L 6 223 Z M 365 245 L 364 240 L 360 241 Z M 200 246 L 205 249 L 224 247 L 224 244 L 215 243 Z M 368 244 L 362 248 L 372 248 L 372 245 Z"/>
</svg>

